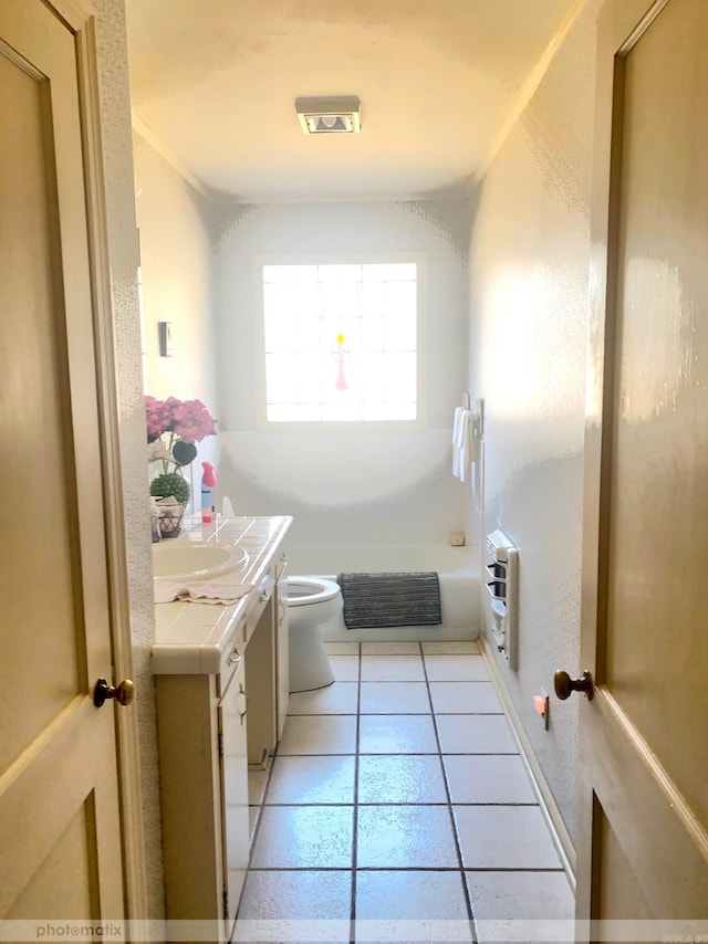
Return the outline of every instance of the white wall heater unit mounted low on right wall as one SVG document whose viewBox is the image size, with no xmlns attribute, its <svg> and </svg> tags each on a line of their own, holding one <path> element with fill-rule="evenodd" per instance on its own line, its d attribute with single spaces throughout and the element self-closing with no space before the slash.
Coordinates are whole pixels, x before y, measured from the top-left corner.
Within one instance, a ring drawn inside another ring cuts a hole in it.
<svg viewBox="0 0 708 944">
<path fill-rule="evenodd" d="M 519 552 L 503 531 L 487 535 L 487 583 L 491 608 L 491 631 L 497 649 L 509 668 L 519 667 Z"/>
</svg>

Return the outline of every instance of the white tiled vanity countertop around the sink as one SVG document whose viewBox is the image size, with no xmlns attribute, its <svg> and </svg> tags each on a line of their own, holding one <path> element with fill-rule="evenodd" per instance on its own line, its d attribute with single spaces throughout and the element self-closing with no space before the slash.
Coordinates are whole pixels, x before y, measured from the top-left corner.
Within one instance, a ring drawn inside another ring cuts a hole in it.
<svg viewBox="0 0 708 944">
<path fill-rule="evenodd" d="M 232 606 L 156 604 L 153 674 L 214 674 L 220 670 L 223 654 L 258 602 L 262 586 L 272 580 L 278 552 L 291 524 L 292 518 L 283 515 L 219 516 L 215 524 L 202 524 L 198 517 L 185 520 L 183 534 L 169 541 L 214 541 L 244 548 L 250 559 L 238 581 L 252 585 L 253 590 Z M 232 579 L 232 574 L 214 578 L 225 584 Z"/>
</svg>

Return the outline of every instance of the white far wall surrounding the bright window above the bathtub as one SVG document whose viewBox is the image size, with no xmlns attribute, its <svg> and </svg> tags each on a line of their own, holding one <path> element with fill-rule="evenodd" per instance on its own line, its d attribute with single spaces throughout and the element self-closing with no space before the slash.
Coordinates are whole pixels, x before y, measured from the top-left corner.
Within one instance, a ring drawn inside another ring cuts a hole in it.
<svg viewBox="0 0 708 944">
<path fill-rule="evenodd" d="M 222 493 L 237 511 L 292 514 L 295 543 L 445 542 L 465 486 L 450 473 L 466 388 L 470 204 L 455 201 L 225 208 L 215 221 Z M 259 431 L 251 260 L 269 253 L 428 254 L 427 428 Z"/>
</svg>

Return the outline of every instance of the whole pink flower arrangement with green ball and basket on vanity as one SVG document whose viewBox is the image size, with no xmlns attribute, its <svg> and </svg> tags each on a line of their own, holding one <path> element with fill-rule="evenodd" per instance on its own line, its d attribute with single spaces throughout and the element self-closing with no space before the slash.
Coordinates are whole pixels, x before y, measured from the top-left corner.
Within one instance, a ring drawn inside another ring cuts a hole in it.
<svg viewBox="0 0 708 944">
<path fill-rule="evenodd" d="M 150 495 L 160 505 L 163 537 L 176 537 L 189 501 L 189 482 L 183 470 L 197 458 L 196 442 L 216 436 L 215 421 L 201 400 L 157 400 L 146 395 L 148 461 L 157 463 Z"/>
</svg>

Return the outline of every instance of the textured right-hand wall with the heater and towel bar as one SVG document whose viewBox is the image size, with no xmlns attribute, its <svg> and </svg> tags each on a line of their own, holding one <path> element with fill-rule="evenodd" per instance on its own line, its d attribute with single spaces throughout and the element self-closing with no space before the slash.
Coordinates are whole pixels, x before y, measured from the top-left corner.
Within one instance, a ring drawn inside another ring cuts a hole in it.
<svg viewBox="0 0 708 944">
<path fill-rule="evenodd" d="M 470 385 L 486 397 L 483 531 L 520 549 L 519 671 L 500 672 L 574 836 L 577 701 L 533 711 L 579 668 L 596 0 L 485 177 L 471 249 Z"/>
</svg>

